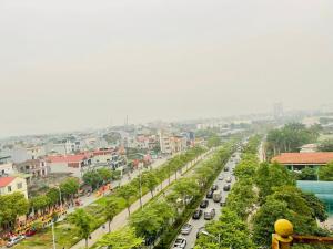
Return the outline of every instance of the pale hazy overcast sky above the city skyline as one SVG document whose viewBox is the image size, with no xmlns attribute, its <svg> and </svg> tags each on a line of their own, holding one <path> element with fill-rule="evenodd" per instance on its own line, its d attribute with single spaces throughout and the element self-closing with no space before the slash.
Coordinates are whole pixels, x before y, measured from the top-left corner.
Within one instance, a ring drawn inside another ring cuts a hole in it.
<svg viewBox="0 0 333 249">
<path fill-rule="evenodd" d="M 0 0 L 0 136 L 317 107 L 333 1 Z"/>
</svg>

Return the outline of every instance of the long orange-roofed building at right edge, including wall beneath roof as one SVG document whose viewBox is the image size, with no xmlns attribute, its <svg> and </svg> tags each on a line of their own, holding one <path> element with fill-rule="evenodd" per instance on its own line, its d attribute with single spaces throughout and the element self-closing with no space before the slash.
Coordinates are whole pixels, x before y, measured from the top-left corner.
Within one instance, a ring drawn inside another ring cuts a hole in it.
<svg viewBox="0 0 333 249">
<path fill-rule="evenodd" d="M 282 153 L 272 158 L 291 170 L 301 170 L 304 167 L 317 168 L 333 162 L 333 152 L 313 153 Z"/>
</svg>

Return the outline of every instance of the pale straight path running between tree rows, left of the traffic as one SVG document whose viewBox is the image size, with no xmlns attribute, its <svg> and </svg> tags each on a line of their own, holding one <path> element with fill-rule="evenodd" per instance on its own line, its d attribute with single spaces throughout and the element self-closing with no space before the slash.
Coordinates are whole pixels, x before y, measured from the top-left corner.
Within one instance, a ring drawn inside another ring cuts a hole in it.
<svg viewBox="0 0 333 249">
<path fill-rule="evenodd" d="M 209 152 L 204 153 L 203 155 L 199 156 L 198 158 L 195 158 L 194 160 L 188 163 L 186 165 L 184 165 L 182 167 L 182 170 L 186 170 L 186 168 L 193 166 L 194 164 L 196 164 L 198 162 L 205 159 L 212 152 L 214 152 L 214 149 L 210 149 Z M 178 176 L 178 178 L 180 178 L 180 174 Z M 173 183 L 175 180 L 175 174 L 171 176 L 171 180 L 170 184 Z M 162 186 L 162 187 L 161 187 Z M 154 195 L 157 195 L 158 193 L 160 193 L 162 189 L 164 189 L 165 187 L 169 186 L 169 179 L 165 179 L 162 185 L 159 185 L 159 187 L 155 189 Z M 142 197 L 142 204 L 147 204 L 149 200 L 151 200 L 151 194 L 148 193 Z M 138 210 L 140 207 L 140 200 L 138 199 L 135 203 L 132 204 L 132 206 L 130 207 L 131 214 L 134 212 L 135 210 Z M 120 214 L 118 214 L 114 219 L 111 222 L 111 229 L 115 230 L 119 228 L 124 227 L 128 224 L 128 218 L 129 218 L 129 214 L 128 210 L 124 209 L 122 210 Z M 88 241 L 88 246 L 91 247 L 93 246 L 103 235 L 108 234 L 108 222 L 105 222 L 104 225 L 102 225 L 101 227 L 99 227 L 97 230 L 94 230 L 91 234 L 91 239 Z M 85 240 L 81 240 L 79 241 L 77 245 L 74 245 L 73 247 L 71 247 L 71 249 L 83 249 L 85 246 Z"/>
</svg>

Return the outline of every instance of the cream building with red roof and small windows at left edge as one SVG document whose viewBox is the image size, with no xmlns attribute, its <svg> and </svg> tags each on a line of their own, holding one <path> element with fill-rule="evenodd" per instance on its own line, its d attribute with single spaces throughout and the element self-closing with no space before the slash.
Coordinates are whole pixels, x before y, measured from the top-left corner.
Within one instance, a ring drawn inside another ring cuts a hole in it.
<svg viewBox="0 0 333 249">
<path fill-rule="evenodd" d="M 0 195 L 22 193 L 28 199 L 27 180 L 18 176 L 0 177 Z"/>
</svg>

